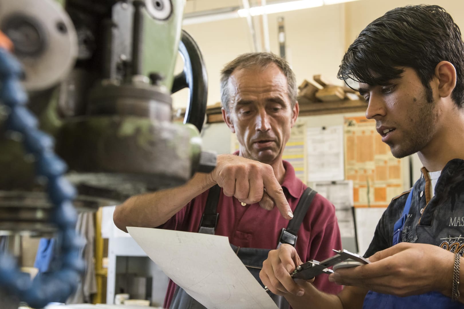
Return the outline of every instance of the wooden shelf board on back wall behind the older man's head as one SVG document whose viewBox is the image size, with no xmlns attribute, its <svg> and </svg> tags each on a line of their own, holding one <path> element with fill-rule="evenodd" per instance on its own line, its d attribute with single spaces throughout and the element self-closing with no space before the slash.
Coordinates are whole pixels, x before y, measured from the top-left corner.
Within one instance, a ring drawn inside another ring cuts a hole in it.
<svg viewBox="0 0 464 309">
<path fill-rule="evenodd" d="M 301 116 L 314 116 L 326 114 L 345 114 L 355 112 L 366 112 L 367 104 L 361 100 L 343 100 L 335 102 L 311 102 L 304 97 L 298 97 Z M 206 122 L 223 122 L 221 108 L 213 107 L 206 109 Z"/>
</svg>

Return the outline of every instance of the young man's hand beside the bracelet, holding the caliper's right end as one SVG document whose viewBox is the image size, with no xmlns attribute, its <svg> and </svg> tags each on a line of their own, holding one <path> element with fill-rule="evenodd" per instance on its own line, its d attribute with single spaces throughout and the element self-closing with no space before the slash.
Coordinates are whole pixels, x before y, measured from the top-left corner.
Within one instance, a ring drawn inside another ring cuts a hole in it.
<svg viewBox="0 0 464 309">
<path fill-rule="evenodd" d="M 451 296 L 454 254 L 438 246 L 401 242 L 369 257 L 370 264 L 338 269 L 337 284 L 354 285 L 396 296 L 433 290 Z"/>
</svg>

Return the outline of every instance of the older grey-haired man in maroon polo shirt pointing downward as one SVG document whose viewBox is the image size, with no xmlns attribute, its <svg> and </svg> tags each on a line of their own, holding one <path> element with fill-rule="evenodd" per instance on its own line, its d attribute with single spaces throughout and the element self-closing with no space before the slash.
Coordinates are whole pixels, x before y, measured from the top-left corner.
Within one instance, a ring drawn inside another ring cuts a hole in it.
<svg viewBox="0 0 464 309">
<path fill-rule="evenodd" d="M 116 226 L 124 231 L 128 226 L 160 227 L 228 236 L 258 279 L 269 250 L 292 238 L 286 232 L 280 236 L 295 213 L 290 222 L 302 220 L 294 228 L 296 251 L 303 259 L 325 259 L 332 248 L 341 247 L 335 208 L 316 194 L 311 203 L 298 205 L 309 207 L 299 215 L 295 209 L 307 187 L 282 160 L 299 111 L 295 75 L 288 63 L 270 53 L 237 57 L 222 71 L 221 101 L 224 121 L 237 134 L 238 153 L 219 155 L 212 173 L 198 173 L 184 186 L 130 198 L 116 207 Z M 212 225 L 200 227 L 204 214 L 202 222 L 213 218 Z M 317 278 L 315 285 L 329 293 L 341 290 L 327 275 Z M 170 282 L 164 307 L 191 308 L 188 303 L 194 300 L 181 289 L 173 299 L 174 290 Z"/>
</svg>

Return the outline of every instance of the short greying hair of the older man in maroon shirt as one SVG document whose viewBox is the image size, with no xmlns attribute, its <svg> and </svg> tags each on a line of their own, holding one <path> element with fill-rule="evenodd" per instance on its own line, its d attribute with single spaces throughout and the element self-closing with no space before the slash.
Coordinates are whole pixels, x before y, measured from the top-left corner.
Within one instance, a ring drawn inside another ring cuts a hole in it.
<svg viewBox="0 0 464 309">
<path fill-rule="evenodd" d="M 229 101 L 230 94 L 227 84 L 229 82 L 229 77 L 232 75 L 233 71 L 236 69 L 244 68 L 266 68 L 269 64 L 275 63 L 279 69 L 282 70 L 285 77 L 287 78 L 287 87 L 289 98 L 291 102 L 291 107 L 293 108 L 296 104 L 296 78 L 295 73 L 290 69 L 290 65 L 285 61 L 284 58 L 279 57 L 273 53 L 269 52 L 251 52 L 238 56 L 231 62 L 227 63 L 224 66 L 224 69 L 221 70 L 221 104 L 222 107 L 229 112 Z"/>
</svg>

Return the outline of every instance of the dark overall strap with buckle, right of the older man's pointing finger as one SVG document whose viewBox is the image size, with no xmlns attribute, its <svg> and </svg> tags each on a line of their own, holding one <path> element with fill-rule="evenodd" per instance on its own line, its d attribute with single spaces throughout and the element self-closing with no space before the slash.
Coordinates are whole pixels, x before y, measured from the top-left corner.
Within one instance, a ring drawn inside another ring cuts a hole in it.
<svg viewBox="0 0 464 309">
<path fill-rule="evenodd" d="M 282 232 L 279 236 L 277 248 L 282 244 L 289 244 L 292 246 L 296 245 L 296 238 L 298 230 L 300 229 L 301 223 L 303 222 L 304 216 L 308 212 L 309 205 L 313 202 L 314 196 L 317 192 L 311 188 L 306 188 L 301 195 L 298 204 L 296 205 L 295 211 L 293 212 L 293 219 L 290 220 L 287 228 L 282 228 Z"/>
</svg>

